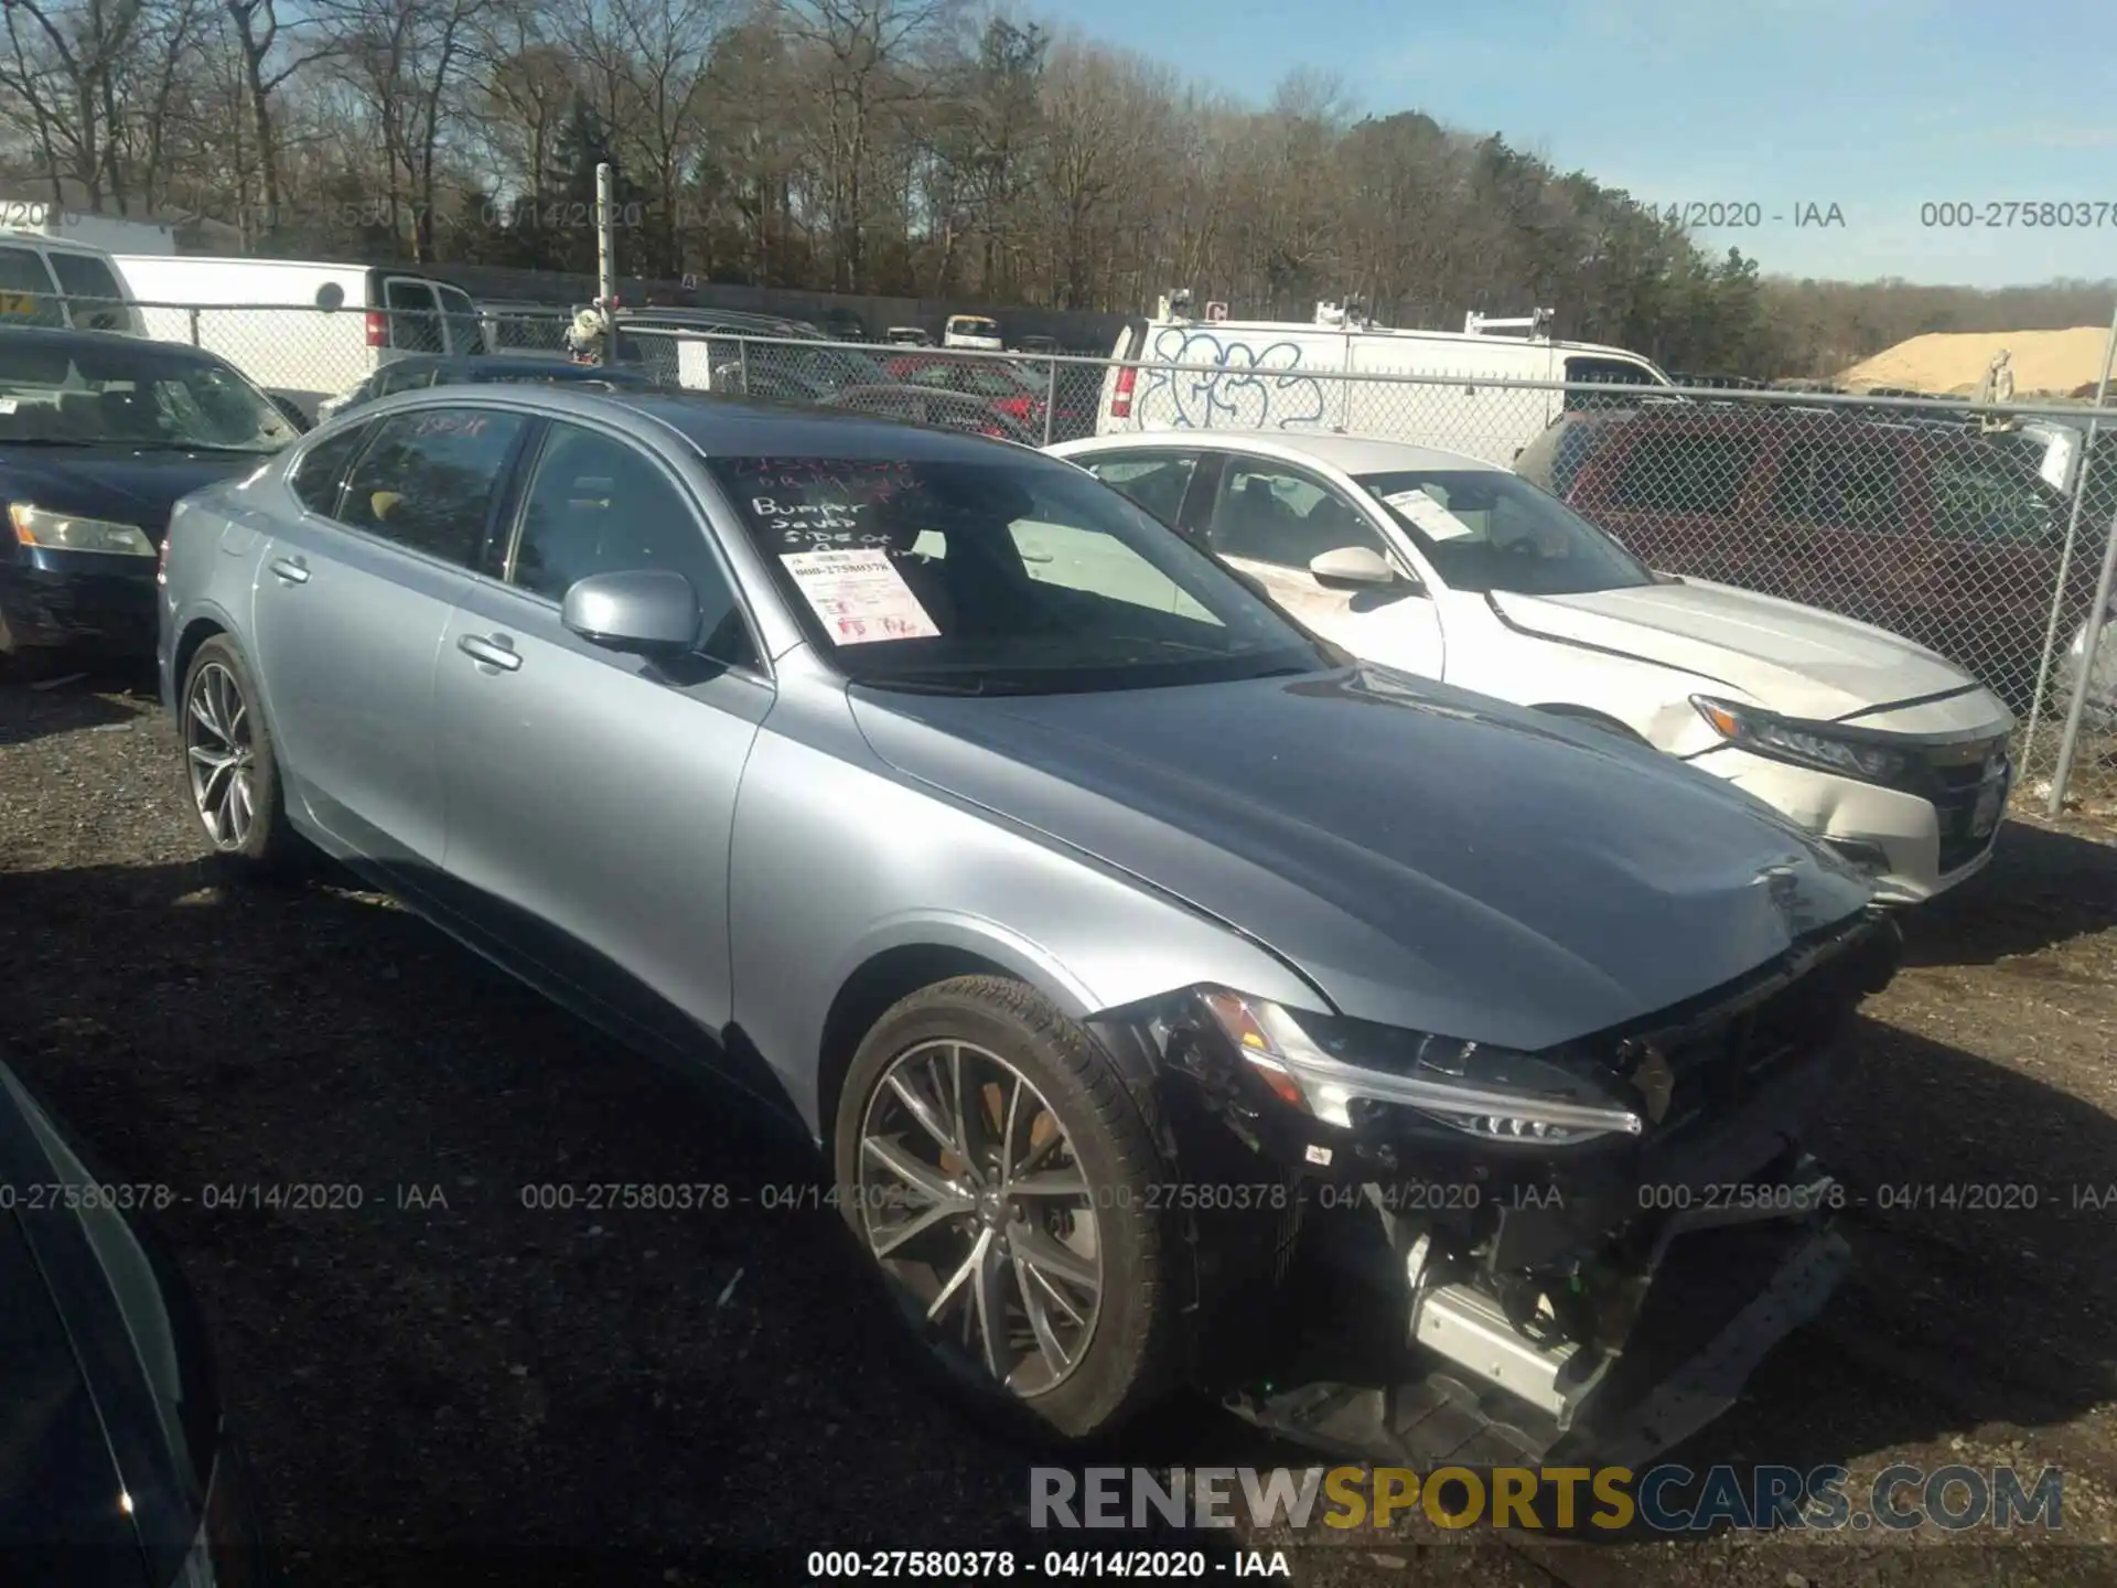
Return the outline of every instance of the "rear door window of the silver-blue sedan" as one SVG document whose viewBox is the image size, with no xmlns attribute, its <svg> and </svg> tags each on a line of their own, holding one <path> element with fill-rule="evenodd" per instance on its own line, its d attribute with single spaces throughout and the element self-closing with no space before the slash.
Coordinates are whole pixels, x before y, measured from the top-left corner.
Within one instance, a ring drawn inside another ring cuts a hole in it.
<svg viewBox="0 0 2117 1588">
<path fill-rule="evenodd" d="M 339 519 L 406 551 L 472 567 L 529 419 L 495 409 L 417 409 L 377 419 Z"/>
</svg>

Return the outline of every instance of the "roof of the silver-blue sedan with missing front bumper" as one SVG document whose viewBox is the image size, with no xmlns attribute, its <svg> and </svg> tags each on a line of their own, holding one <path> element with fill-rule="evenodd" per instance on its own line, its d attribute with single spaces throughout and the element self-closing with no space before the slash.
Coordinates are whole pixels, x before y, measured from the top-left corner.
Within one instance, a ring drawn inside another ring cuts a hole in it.
<svg viewBox="0 0 2117 1588">
<path fill-rule="evenodd" d="M 125 341 L 125 339 L 119 339 Z M 891 387 L 881 387 L 891 390 Z M 936 396 L 925 387 L 910 387 Z M 595 392 L 578 385 L 472 385 L 447 392 L 428 387 L 362 404 L 360 415 L 381 419 L 390 413 L 423 407 L 493 407 L 533 409 L 553 417 L 576 415 L 625 423 L 627 417 L 652 419 L 707 457 L 857 457 L 900 459 L 915 464 L 997 464 L 1001 459 L 1058 464 L 1033 447 L 972 436 L 944 426 L 921 426 L 906 419 L 821 409 L 800 402 L 762 402 L 722 392 L 682 392 L 648 387 L 637 392 Z M 351 417 L 351 415 L 349 415 Z"/>
</svg>

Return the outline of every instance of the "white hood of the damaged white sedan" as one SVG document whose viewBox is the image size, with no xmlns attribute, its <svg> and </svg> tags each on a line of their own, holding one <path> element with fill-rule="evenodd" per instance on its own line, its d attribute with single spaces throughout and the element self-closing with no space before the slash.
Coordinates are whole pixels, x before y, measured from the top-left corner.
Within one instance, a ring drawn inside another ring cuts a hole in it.
<svg viewBox="0 0 2117 1588">
<path fill-rule="evenodd" d="M 1685 578 L 1590 595 L 1495 593 L 1516 629 L 1732 684 L 1770 711 L 1833 722 L 1977 686 L 1946 656 L 1869 622 Z"/>
</svg>

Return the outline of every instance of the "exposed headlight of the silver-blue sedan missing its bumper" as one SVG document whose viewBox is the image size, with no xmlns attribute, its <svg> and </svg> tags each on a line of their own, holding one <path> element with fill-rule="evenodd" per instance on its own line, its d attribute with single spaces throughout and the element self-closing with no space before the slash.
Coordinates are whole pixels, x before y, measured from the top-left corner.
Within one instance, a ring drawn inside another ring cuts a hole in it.
<svg viewBox="0 0 2117 1588">
<path fill-rule="evenodd" d="M 1226 989 L 1198 999 L 1272 1095 L 1323 1124 L 1353 1129 L 1406 1107 L 1486 1141 L 1575 1145 L 1645 1131 L 1634 1109 L 1537 1054 L 1296 1014 Z"/>
</svg>

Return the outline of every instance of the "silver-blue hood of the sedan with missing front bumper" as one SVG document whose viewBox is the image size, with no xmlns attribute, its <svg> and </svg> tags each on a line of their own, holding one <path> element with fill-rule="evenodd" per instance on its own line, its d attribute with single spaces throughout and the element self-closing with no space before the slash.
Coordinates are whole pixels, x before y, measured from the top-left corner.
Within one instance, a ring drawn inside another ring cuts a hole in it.
<svg viewBox="0 0 2117 1588">
<path fill-rule="evenodd" d="M 853 711 L 900 773 L 1230 923 L 1344 1014 L 1452 1037 L 1607 1029 L 1869 898 L 1715 777 L 1372 665 Z"/>
</svg>

